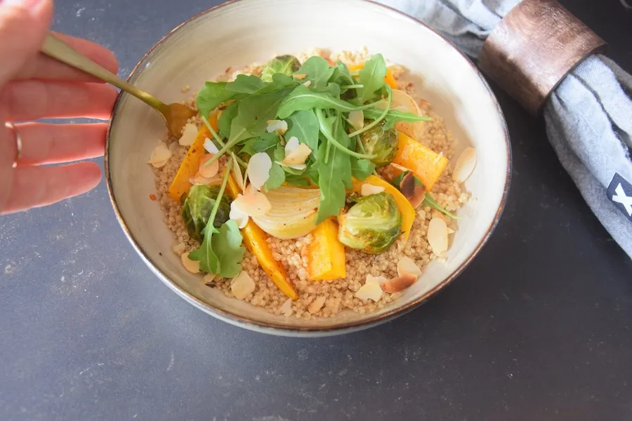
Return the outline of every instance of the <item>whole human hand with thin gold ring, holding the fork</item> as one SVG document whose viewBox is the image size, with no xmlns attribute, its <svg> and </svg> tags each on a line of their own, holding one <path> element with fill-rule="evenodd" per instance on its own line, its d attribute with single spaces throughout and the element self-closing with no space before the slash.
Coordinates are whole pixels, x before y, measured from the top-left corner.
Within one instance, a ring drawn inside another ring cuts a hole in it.
<svg viewBox="0 0 632 421">
<path fill-rule="evenodd" d="M 99 166 L 89 161 L 42 165 L 103 155 L 106 123 L 24 123 L 109 119 L 117 97 L 114 88 L 39 53 L 52 16 L 53 0 L 0 0 L 0 214 L 77 196 L 96 187 L 101 178 Z M 107 48 L 60 37 L 117 73 L 117 60 Z M 17 161 L 17 133 L 6 122 L 13 123 L 22 138 Z"/>
</svg>

